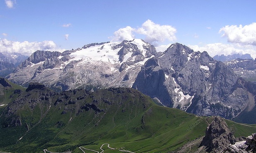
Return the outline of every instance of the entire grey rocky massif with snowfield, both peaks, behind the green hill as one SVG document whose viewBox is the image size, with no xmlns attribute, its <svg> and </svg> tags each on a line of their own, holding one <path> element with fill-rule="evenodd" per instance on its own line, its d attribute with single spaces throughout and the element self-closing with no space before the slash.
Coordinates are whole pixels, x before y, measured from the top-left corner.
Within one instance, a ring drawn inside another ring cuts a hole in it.
<svg viewBox="0 0 256 153">
<path fill-rule="evenodd" d="M 92 43 L 63 53 L 37 51 L 7 76 L 56 91 L 132 87 L 159 103 L 197 115 L 236 117 L 255 102 L 253 89 L 231 67 L 180 43 L 165 52 L 141 39 Z M 248 105 L 250 104 L 250 105 Z"/>
</svg>

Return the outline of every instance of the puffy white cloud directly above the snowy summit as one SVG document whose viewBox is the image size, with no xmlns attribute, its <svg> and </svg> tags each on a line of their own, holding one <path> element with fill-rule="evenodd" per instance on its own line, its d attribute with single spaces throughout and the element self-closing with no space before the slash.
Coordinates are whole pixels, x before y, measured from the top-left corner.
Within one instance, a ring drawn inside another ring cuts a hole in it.
<svg viewBox="0 0 256 153">
<path fill-rule="evenodd" d="M 114 32 L 114 36 L 112 41 L 123 41 L 125 40 L 132 40 L 135 38 L 136 34 L 144 35 L 144 40 L 154 45 L 158 45 L 158 43 L 176 40 L 175 33 L 177 30 L 169 25 L 160 25 L 155 24 L 151 20 L 147 20 L 144 22 L 141 27 L 132 28 L 127 26 L 125 28 L 118 29 Z"/>
</svg>

